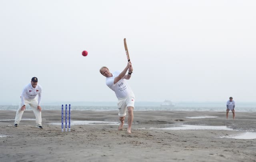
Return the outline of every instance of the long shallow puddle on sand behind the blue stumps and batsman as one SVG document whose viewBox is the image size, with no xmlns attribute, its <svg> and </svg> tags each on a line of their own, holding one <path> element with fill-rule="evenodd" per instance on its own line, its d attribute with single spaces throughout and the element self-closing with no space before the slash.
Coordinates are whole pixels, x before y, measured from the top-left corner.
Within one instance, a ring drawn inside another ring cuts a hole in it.
<svg viewBox="0 0 256 162">
<path fill-rule="evenodd" d="M 51 123 L 53 125 L 61 126 L 61 123 Z M 63 123 L 65 125 L 65 121 Z M 71 120 L 70 124 L 73 125 L 119 125 L 118 122 L 107 121 L 89 121 L 89 120 Z"/>
</svg>

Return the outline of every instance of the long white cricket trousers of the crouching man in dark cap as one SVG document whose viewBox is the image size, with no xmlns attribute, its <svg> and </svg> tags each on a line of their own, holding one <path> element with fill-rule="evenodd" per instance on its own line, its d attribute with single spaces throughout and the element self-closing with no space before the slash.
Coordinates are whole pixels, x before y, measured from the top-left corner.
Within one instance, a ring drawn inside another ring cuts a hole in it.
<svg viewBox="0 0 256 162">
<path fill-rule="evenodd" d="M 37 109 L 37 106 L 38 106 L 37 98 L 35 98 L 33 100 L 24 99 L 24 104 L 25 105 L 30 105 L 30 107 L 32 108 L 32 110 L 33 110 L 33 112 L 36 116 L 36 126 L 42 126 L 41 112 Z M 14 124 L 19 124 L 20 123 L 20 120 L 21 120 L 23 112 L 24 112 L 24 111 L 21 110 L 21 107 L 22 107 L 22 102 L 20 101 L 19 109 L 16 112 Z"/>
</svg>

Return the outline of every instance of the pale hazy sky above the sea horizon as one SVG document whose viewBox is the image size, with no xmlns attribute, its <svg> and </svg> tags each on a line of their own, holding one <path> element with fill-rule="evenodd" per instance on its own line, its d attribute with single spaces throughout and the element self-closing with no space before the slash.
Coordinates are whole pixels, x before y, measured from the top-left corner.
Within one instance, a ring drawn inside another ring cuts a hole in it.
<svg viewBox="0 0 256 162">
<path fill-rule="evenodd" d="M 33 76 L 42 104 L 116 101 L 99 69 L 124 69 L 124 38 L 136 101 L 255 101 L 255 8 L 255 0 L 2 0 L 0 104 L 18 103 Z"/>
</svg>

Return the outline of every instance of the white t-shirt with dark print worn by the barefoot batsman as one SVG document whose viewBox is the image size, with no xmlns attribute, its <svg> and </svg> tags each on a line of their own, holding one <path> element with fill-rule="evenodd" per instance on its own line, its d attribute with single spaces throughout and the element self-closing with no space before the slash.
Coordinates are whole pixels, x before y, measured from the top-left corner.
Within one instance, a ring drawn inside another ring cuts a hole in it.
<svg viewBox="0 0 256 162">
<path fill-rule="evenodd" d="M 122 78 L 116 84 L 114 84 L 114 79 L 120 74 L 121 72 L 116 71 L 112 73 L 112 77 L 106 78 L 106 85 L 112 89 L 116 93 L 116 97 L 118 99 L 126 98 L 133 94 L 132 89 L 126 83 L 125 79 Z"/>
</svg>

